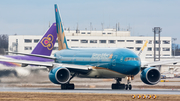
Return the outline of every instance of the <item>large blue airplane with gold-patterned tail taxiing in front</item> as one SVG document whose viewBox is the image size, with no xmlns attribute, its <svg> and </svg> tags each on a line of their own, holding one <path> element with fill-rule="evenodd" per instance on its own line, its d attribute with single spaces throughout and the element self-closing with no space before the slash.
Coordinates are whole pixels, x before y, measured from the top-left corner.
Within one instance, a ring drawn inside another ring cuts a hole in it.
<svg viewBox="0 0 180 101">
<path fill-rule="evenodd" d="M 112 84 L 111 88 L 126 90 L 132 89 L 131 80 L 140 71 L 141 80 L 145 84 L 154 85 L 160 81 L 161 75 L 159 70 L 153 67 L 155 65 L 141 67 L 139 55 L 127 48 L 69 48 L 57 4 L 54 6 L 59 51 L 54 54 L 54 57 L 33 55 L 52 59 L 54 62 L 44 63 L 8 59 L 0 59 L 0 61 L 46 66 L 49 69 L 50 81 L 61 85 L 61 89 L 74 89 L 75 86 L 70 81 L 75 76 L 82 78 L 114 78 L 116 83 Z M 126 84 L 121 82 L 122 78 L 127 78 Z"/>
</svg>

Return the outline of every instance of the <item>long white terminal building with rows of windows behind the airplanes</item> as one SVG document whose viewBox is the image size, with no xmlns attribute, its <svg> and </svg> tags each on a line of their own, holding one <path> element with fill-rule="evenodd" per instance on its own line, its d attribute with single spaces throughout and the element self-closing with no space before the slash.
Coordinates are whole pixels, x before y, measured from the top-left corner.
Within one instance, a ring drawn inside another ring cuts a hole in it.
<svg viewBox="0 0 180 101">
<path fill-rule="evenodd" d="M 116 31 L 115 29 L 104 29 L 103 31 L 65 31 L 69 48 L 129 48 L 138 53 L 148 40 L 146 57 L 154 56 L 154 37 L 131 36 L 130 31 Z M 10 35 L 9 51 L 30 53 L 42 35 Z M 156 43 L 158 43 L 156 41 Z M 160 56 L 171 56 L 171 37 L 161 37 Z M 58 50 L 58 43 L 53 53 Z M 158 48 L 156 49 L 159 50 Z M 153 60 L 153 59 L 152 59 Z M 151 60 L 149 60 L 151 61 Z"/>
</svg>

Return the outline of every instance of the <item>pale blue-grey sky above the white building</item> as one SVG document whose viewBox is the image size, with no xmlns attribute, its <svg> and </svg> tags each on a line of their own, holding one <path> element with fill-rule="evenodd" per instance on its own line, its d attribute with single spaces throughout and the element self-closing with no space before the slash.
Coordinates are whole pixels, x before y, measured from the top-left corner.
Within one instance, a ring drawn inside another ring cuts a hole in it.
<svg viewBox="0 0 180 101">
<path fill-rule="evenodd" d="M 161 27 L 161 36 L 177 38 L 180 44 L 180 0 L 0 0 L 0 34 L 43 35 L 49 22 L 55 22 L 58 4 L 64 27 L 80 30 L 131 27 L 132 36 L 153 36 L 152 28 Z"/>
</svg>

